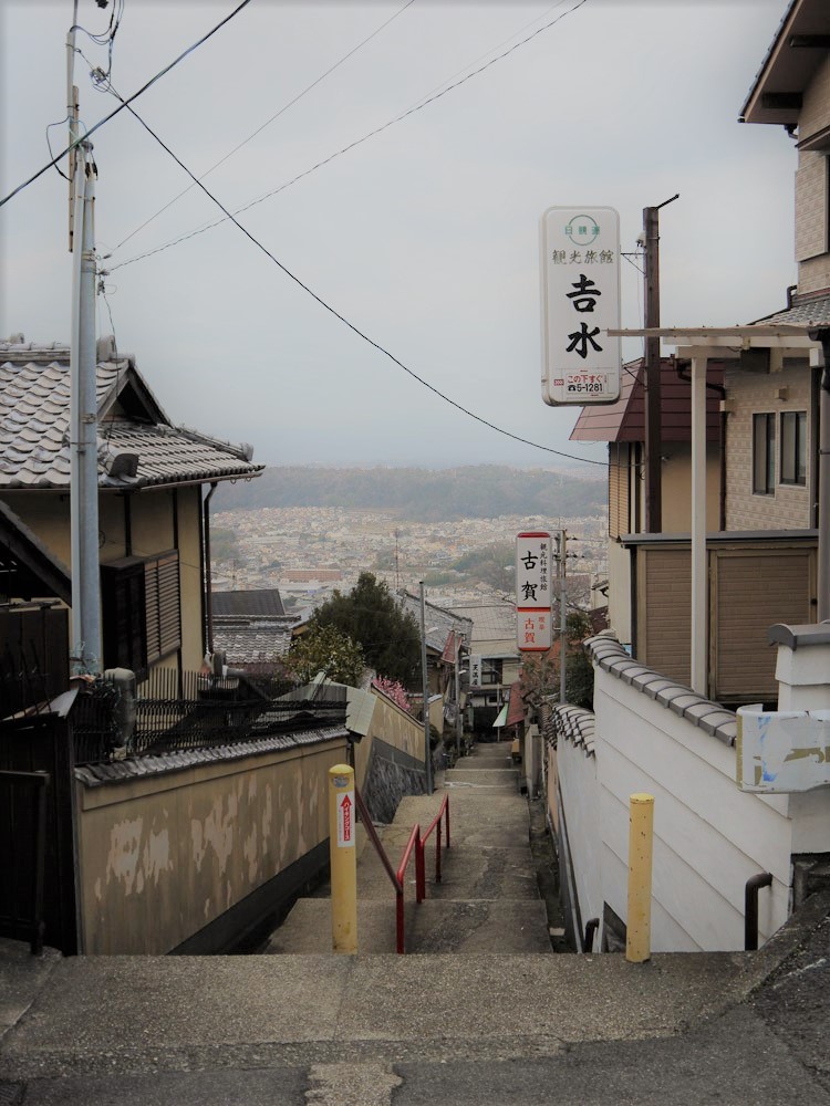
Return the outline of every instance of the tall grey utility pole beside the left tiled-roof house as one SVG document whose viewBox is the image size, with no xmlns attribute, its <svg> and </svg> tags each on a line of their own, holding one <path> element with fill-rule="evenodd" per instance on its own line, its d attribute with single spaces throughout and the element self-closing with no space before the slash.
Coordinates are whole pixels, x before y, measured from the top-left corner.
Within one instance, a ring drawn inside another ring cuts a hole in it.
<svg viewBox="0 0 830 1106">
<path fill-rule="evenodd" d="M 77 90 L 73 84 L 75 18 L 66 39 L 70 142 L 77 140 Z M 92 145 L 70 155 L 72 338 L 70 348 L 70 530 L 72 547 L 72 672 L 100 674 L 101 568 L 98 563 L 97 380 L 95 352 L 95 163 Z"/>
</svg>

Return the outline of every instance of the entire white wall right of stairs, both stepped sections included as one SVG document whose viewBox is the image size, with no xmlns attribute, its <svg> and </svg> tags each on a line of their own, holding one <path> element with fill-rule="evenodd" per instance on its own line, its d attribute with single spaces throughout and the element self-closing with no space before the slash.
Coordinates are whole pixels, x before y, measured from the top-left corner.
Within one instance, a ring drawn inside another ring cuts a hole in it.
<svg viewBox="0 0 830 1106">
<path fill-rule="evenodd" d="M 740 792 L 735 749 L 630 682 L 630 675 L 624 679 L 624 672 L 656 674 L 626 658 L 615 641 L 605 644 L 610 670 L 595 666 L 595 761 L 561 739 L 557 751 L 582 920 L 602 918 L 608 904 L 625 921 L 629 799 L 646 792 L 655 797 L 653 950 L 743 949 L 745 885 L 759 872 L 774 877 L 759 897 L 760 940 L 767 940 L 789 914 L 791 855 L 828 848 L 830 791 Z M 717 709 L 709 705 L 709 713 Z M 723 712 L 727 723 L 730 717 Z"/>
</svg>

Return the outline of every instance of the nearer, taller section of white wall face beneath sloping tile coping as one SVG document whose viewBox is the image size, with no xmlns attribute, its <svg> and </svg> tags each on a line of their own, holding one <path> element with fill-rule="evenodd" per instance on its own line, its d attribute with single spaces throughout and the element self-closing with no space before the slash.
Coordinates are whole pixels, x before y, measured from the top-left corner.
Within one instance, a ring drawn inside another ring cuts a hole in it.
<svg viewBox="0 0 830 1106">
<path fill-rule="evenodd" d="M 652 949 L 744 947 L 744 888 L 758 872 L 761 941 L 787 919 L 792 824 L 786 796 L 738 791 L 735 750 L 596 669 L 595 753 L 604 900 L 627 912 L 629 797 L 654 795 Z M 582 802 L 571 794 L 567 815 Z"/>
</svg>

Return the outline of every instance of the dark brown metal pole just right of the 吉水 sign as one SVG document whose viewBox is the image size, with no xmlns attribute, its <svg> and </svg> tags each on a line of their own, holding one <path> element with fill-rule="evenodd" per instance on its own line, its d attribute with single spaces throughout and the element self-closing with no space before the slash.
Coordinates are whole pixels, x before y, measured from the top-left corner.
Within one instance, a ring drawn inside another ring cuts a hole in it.
<svg viewBox="0 0 830 1106">
<path fill-rule="evenodd" d="M 656 207 L 643 208 L 644 247 L 644 325 L 660 326 L 660 216 L 666 204 L 677 199 L 679 192 Z M 658 534 L 663 530 L 663 473 L 660 409 L 660 338 L 646 337 L 643 358 L 645 376 L 645 530 Z"/>
</svg>

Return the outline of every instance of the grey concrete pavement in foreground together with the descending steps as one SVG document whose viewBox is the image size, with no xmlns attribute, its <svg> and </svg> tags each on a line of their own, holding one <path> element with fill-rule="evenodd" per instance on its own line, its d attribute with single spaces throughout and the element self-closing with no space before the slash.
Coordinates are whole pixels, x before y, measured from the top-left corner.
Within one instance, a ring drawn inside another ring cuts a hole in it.
<svg viewBox="0 0 830 1106">
<path fill-rule="evenodd" d="M 444 878 L 407 907 L 435 906 L 409 927 L 422 951 L 372 951 L 370 930 L 354 957 L 290 951 L 324 899 L 260 956 L 31 958 L 0 941 L 0 1104 L 830 1106 L 830 894 L 759 952 L 554 953 L 509 762 L 463 764 L 384 833 L 449 793 Z M 365 848 L 360 868 L 371 890 Z"/>
</svg>

